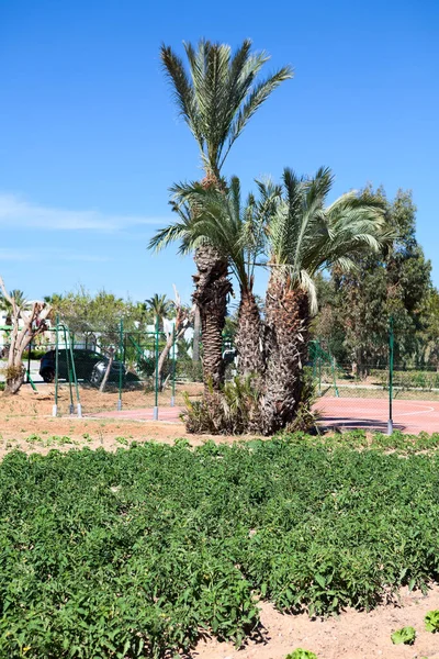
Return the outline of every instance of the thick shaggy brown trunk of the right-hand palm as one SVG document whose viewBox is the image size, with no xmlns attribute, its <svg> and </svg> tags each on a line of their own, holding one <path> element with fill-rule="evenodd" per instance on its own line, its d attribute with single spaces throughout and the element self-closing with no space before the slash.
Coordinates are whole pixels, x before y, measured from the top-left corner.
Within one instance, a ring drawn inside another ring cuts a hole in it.
<svg viewBox="0 0 439 659">
<path fill-rule="evenodd" d="M 272 435 L 294 420 L 301 402 L 306 360 L 309 306 L 306 292 L 271 276 L 266 304 L 267 367 L 262 395 L 262 432 Z"/>
</svg>

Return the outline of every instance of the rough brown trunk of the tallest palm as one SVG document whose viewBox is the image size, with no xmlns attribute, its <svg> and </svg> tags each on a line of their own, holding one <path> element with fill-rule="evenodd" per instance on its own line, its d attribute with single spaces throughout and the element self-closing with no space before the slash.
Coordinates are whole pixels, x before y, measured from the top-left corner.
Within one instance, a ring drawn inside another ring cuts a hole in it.
<svg viewBox="0 0 439 659">
<path fill-rule="evenodd" d="M 203 339 L 203 381 L 218 390 L 224 382 L 223 330 L 227 295 L 232 292 L 227 260 L 209 245 L 199 247 L 194 260 L 198 272 L 193 276 L 193 301 L 200 310 Z"/>
</svg>

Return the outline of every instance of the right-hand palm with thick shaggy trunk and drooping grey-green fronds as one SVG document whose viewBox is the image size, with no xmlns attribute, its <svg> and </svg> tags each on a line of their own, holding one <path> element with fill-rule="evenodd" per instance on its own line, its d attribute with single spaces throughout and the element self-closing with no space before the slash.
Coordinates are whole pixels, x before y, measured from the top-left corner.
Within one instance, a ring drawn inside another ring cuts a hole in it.
<svg viewBox="0 0 439 659">
<path fill-rule="evenodd" d="M 333 204 L 329 169 L 300 179 L 283 172 L 283 201 L 268 224 L 263 432 L 285 427 L 301 401 L 311 314 L 317 310 L 314 277 L 322 269 L 354 268 L 352 258 L 379 252 L 392 237 L 381 201 L 356 192 Z"/>
</svg>

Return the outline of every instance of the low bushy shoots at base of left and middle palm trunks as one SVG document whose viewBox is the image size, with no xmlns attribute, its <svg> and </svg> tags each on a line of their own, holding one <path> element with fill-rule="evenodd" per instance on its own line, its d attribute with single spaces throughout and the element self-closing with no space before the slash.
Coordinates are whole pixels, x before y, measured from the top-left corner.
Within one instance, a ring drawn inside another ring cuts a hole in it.
<svg viewBox="0 0 439 659">
<path fill-rule="evenodd" d="M 259 393 L 252 377 L 235 377 L 221 391 L 212 387 L 201 401 L 184 398 L 182 420 L 188 433 L 241 435 L 260 425 Z"/>
</svg>

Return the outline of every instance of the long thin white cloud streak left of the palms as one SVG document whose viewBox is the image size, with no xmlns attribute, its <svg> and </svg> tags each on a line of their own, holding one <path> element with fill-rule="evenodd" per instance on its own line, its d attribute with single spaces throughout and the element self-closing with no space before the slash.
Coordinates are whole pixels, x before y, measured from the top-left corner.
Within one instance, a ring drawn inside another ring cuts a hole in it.
<svg viewBox="0 0 439 659">
<path fill-rule="evenodd" d="M 38 205 L 18 197 L 0 192 L 1 228 L 38 228 L 47 231 L 117 232 L 145 224 L 160 226 L 169 217 L 147 215 L 117 215 L 98 210 L 71 211 Z"/>
</svg>

